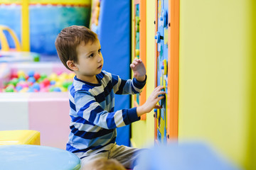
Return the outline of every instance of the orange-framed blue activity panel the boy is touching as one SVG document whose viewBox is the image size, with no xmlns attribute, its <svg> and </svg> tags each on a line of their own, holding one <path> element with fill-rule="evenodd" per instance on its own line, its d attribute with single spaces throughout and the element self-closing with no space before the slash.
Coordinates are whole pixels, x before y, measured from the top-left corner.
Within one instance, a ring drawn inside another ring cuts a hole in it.
<svg viewBox="0 0 256 170">
<path fill-rule="evenodd" d="M 164 86 L 163 108 L 154 110 L 155 141 L 178 137 L 178 36 L 179 0 L 156 1 L 156 86 Z"/>
</svg>

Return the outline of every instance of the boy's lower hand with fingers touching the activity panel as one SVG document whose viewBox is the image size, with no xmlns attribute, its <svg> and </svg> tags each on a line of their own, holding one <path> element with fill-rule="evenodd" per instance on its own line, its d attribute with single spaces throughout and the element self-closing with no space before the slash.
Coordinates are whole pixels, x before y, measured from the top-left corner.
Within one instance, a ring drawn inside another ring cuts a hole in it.
<svg viewBox="0 0 256 170">
<path fill-rule="evenodd" d="M 149 113 L 153 108 L 162 108 L 159 105 L 156 105 L 164 96 L 159 96 L 161 94 L 166 94 L 165 91 L 161 91 L 164 89 L 164 86 L 157 86 L 156 89 L 150 94 L 149 98 L 142 106 L 137 107 L 137 115 L 138 117 L 143 115 L 144 113 Z"/>
</svg>

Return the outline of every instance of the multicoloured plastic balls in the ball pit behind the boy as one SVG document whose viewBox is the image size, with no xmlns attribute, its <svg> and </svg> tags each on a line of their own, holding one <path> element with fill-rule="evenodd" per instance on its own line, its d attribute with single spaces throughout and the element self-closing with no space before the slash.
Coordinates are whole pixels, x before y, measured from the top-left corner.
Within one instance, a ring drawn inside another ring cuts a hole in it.
<svg viewBox="0 0 256 170">
<path fill-rule="evenodd" d="M 52 73 L 49 76 L 33 70 L 27 74 L 23 70 L 11 73 L 10 80 L 4 83 L 0 92 L 61 92 L 68 91 L 73 83 L 73 72 Z"/>
</svg>

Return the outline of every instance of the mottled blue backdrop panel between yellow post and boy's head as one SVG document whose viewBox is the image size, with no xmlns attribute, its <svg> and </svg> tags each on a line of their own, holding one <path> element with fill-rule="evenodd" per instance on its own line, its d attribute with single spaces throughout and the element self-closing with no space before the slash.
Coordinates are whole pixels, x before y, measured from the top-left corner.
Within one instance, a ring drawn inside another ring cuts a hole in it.
<svg viewBox="0 0 256 170">
<path fill-rule="evenodd" d="M 68 26 L 89 26 L 90 8 L 30 6 L 31 52 L 57 55 L 55 38 Z"/>
</svg>

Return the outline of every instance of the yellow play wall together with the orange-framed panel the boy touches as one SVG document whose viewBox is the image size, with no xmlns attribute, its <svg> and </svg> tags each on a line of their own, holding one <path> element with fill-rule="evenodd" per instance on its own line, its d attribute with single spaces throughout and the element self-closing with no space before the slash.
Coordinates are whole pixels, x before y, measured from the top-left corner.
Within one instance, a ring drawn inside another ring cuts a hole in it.
<svg viewBox="0 0 256 170">
<path fill-rule="evenodd" d="M 166 98 L 132 125 L 133 146 L 199 140 L 255 169 L 253 29 L 254 1 L 146 1 L 146 96 L 154 84 Z"/>
</svg>

